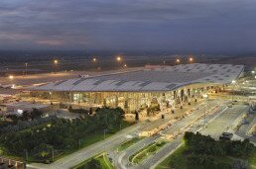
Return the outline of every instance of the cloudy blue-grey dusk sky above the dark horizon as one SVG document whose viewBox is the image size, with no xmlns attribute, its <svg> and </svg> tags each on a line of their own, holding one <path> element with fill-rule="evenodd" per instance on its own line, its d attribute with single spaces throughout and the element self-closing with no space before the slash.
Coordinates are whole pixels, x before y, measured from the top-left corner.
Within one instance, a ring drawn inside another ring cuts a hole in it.
<svg viewBox="0 0 256 169">
<path fill-rule="evenodd" d="M 256 0 L 1 0 L 0 49 L 256 51 Z"/>
</svg>

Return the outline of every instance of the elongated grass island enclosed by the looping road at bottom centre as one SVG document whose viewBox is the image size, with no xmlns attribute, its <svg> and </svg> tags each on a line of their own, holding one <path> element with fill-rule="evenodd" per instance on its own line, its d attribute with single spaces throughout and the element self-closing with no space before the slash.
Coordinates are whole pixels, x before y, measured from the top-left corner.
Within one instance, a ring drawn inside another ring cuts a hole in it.
<svg viewBox="0 0 256 169">
<path fill-rule="evenodd" d="M 129 160 L 133 163 L 140 163 L 150 155 L 155 154 L 161 147 L 166 144 L 165 141 L 159 141 L 149 144 L 148 146 L 140 149 L 138 152 L 129 157 Z"/>
</svg>

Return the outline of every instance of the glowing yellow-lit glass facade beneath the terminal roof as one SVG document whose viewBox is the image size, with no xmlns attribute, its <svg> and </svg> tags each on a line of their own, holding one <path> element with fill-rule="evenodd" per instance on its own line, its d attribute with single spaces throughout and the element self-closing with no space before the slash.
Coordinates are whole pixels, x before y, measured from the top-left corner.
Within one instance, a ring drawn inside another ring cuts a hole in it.
<svg viewBox="0 0 256 169">
<path fill-rule="evenodd" d="M 205 91 L 205 88 L 182 88 L 166 92 L 32 92 L 32 96 L 56 100 L 62 104 L 81 108 L 122 108 L 126 113 L 161 111 L 171 108 L 172 112 L 184 105 L 191 105 Z"/>
</svg>

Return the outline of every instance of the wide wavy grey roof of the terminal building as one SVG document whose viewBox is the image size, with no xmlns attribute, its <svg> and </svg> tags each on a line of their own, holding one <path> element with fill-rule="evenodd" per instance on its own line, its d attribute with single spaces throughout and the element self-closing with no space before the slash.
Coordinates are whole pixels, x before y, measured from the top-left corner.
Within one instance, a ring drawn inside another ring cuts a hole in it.
<svg viewBox="0 0 256 169">
<path fill-rule="evenodd" d="M 227 84 L 238 78 L 243 65 L 181 64 L 146 67 L 143 70 L 81 77 L 37 86 L 38 91 L 171 91 L 196 83 Z"/>
</svg>

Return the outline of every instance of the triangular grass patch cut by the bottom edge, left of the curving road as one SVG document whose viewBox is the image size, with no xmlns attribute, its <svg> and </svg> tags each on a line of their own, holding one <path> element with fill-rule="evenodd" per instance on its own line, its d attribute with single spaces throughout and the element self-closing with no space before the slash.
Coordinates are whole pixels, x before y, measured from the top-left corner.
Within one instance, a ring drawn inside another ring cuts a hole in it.
<svg viewBox="0 0 256 169">
<path fill-rule="evenodd" d="M 86 160 L 82 161 L 81 163 L 71 167 L 71 169 L 84 169 L 84 168 L 88 168 L 87 164 L 92 159 L 95 159 L 96 161 L 98 161 L 100 163 L 100 168 L 101 169 L 114 169 L 113 165 L 111 164 L 111 162 L 107 158 L 105 152 L 103 152 L 101 154 L 98 154 L 98 155 L 95 155 L 95 156 L 93 156 L 93 157 L 91 157 L 89 159 L 86 159 Z"/>
</svg>

